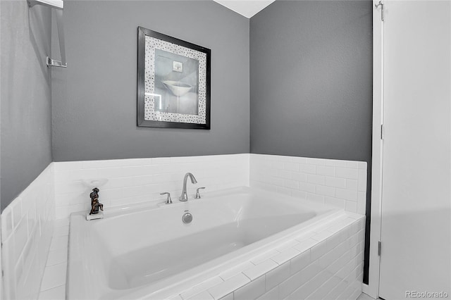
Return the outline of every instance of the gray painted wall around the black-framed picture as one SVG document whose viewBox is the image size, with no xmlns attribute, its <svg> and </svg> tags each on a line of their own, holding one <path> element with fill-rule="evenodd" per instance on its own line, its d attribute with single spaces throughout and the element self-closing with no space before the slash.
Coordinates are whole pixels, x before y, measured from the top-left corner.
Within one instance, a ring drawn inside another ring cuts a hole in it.
<svg viewBox="0 0 451 300">
<path fill-rule="evenodd" d="M 214 1 L 64 4 L 54 161 L 249 153 L 249 19 Z M 211 130 L 136 126 L 139 25 L 211 49 Z"/>
</svg>

